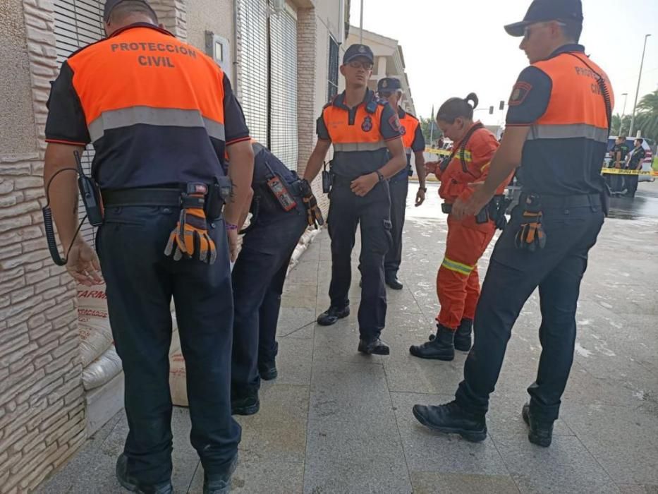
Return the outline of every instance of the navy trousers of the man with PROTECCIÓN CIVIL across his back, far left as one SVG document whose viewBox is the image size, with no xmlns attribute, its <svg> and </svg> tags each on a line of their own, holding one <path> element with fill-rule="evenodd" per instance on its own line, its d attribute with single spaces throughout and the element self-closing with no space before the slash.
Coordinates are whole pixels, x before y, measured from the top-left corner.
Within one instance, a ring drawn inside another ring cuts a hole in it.
<svg viewBox="0 0 658 494">
<path fill-rule="evenodd" d="M 164 255 L 180 210 L 109 207 L 96 239 L 116 351 L 126 374 L 128 474 L 141 483 L 171 477 L 170 304 L 187 371 L 190 440 L 209 476 L 224 474 L 238 452 L 231 417 L 233 297 L 224 222 L 209 227 L 213 265 Z"/>
</svg>

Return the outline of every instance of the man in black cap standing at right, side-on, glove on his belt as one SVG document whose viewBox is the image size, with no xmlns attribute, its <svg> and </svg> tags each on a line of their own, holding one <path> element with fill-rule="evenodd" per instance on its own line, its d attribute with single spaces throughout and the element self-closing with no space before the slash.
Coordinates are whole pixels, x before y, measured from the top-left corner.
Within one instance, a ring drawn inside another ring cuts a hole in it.
<svg viewBox="0 0 658 494">
<path fill-rule="evenodd" d="M 578 44 L 582 28 L 580 0 L 535 0 L 522 22 L 506 26 L 509 34 L 523 36 L 520 49 L 531 66 L 513 88 L 489 176 L 470 199 L 456 201 L 453 215 L 479 211 L 519 164 L 523 191 L 489 263 L 475 312 L 475 344 L 456 400 L 414 406 L 415 417 L 429 428 L 486 438 L 489 394 L 511 329 L 539 287 L 542 355 L 522 416 L 530 442 L 551 444 L 573 362 L 580 280 L 607 209 L 601 168 L 614 97 L 609 78 Z"/>
</svg>

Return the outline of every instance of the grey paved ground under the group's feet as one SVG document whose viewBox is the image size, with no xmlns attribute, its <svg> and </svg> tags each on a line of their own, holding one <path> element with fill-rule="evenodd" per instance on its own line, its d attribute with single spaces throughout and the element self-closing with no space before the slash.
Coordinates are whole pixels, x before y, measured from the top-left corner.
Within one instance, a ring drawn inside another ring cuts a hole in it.
<svg viewBox="0 0 658 494">
<path fill-rule="evenodd" d="M 642 183 L 640 191 L 642 207 L 658 201 L 658 183 Z M 465 359 L 439 363 L 408 354 L 432 331 L 438 310 L 434 277 L 446 223 L 435 186 L 429 198 L 408 210 L 405 289 L 389 291 L 384 338 L 391 356 L 357 354 L 355 315 L 334 327 L 315 325 L 328 306 L 325 232 L 293 270 L 279 325 L 280 377 L 264 385 L 260 414 L 240 418 L 233 492 L 658 493 L 658 219 L 622 214 L 633 206 L 617 200 L 619 217 L 636 219 L 605 224 L 583 282 L 577 354 L 552 447 L 530 445 L 520 419 L 540 354 L 536 296 L 508 347 L 489 438 L 475 445 L 431 433 L 410 413 L 415 403 L 452 399 Z M 357 278 L 354 314 L 359 295 Z M 200 493 L 186 409 L 175 410 L 173 428 L 176 492 Z M 125 435 L 119 414 L 40 492 L 121 492 L 114 462 Z"/>
</svg>

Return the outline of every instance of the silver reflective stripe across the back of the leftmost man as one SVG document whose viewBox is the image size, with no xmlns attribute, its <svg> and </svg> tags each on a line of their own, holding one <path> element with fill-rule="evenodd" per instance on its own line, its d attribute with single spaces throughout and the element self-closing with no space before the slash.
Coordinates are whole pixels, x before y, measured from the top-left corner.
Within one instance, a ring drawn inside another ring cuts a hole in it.
<svg viewBox="0 0 658 494">
<path fill-rule="evenodd" d="M 113 128 L 130 127 L 137 123 L 153 126 L 205 127 L 210 137 L 226 140 L 224 124 L 202 116 L 199 110 L 176 108 L 129 107 L 103 112 L 89 124 L 92 142 Z"/>
</svg>

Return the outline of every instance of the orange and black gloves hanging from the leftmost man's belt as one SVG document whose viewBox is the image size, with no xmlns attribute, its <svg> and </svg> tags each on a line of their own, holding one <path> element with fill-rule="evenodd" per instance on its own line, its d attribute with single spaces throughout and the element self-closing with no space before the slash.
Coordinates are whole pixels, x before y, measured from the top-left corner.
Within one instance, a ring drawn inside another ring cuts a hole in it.
<svg viewBox="0 0 658 494">
<path fill-rule="evenodd" d="M 217 248 L 208 235 L 204 212 L 208 187 L 205 183 L 188 183 L 186 193 L 181 193 L 181 216 L 171 231 L 165 255 L 173 253 L 173 260 L 198 259 L 212 264 L 217 260 Z"/>
</svg>

